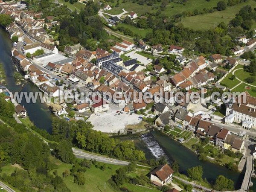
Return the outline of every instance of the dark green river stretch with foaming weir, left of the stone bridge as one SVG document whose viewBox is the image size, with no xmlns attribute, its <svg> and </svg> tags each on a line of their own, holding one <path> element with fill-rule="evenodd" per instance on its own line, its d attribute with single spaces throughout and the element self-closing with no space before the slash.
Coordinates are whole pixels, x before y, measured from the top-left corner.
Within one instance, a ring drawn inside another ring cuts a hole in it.
<svg viewBox="0 0 256 192">
<path fill-rule="evenodd" d="M 180 165 L 180 173 L 182 174 L 186 174 L 186 169 L 200 165 L 204 169 L 203 178 L 206 178 L 210 183 L 213 183 L 218 175 L 224 175 L 234 181 L 236 189 L 240 189 L 241 187 L 244 174 L 230 171 L 224 166 L 219 166 L 208 161 L 198 160 L 194 152 L 160 131 L 151 131 L 141 137 L 139 135 L 131 135 L 120 136 L 118 138 L 120 140 L 133 140 L 135 147 L 143 150 L 147 159 L 165 155 L 169 159 L 169 162 L 176 160 Z"/>
</svg>

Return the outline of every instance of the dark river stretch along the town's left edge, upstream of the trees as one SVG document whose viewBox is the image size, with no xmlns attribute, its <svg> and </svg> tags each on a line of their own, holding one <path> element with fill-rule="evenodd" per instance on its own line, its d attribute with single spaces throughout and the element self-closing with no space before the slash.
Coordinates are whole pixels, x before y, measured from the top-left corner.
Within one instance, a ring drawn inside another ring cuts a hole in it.
<svg viewBox="0 0 256 192">
<path fill-rule="evenodd" d="M 9 33 L 0 27 L 0 61 L 4 66 L 6 73 L 6 87 L 14 93 L 15 91 L 36 92 L 40 91 L 32 82 L 26 83 L 23 87 L 15 84 L 13 73 L 15 68 L 11 58 L 12 41 L 9 38 Z M 48 110 L 47 105 L 40 102 L 38 99 L 35 103 L 26 103 L 22 99 L 21 105 L 24 105 L 29 115 L 29 119 L 35 126 L 45 129 L 48 132 L 52 130 L 52 113 Z"/>
</svg>

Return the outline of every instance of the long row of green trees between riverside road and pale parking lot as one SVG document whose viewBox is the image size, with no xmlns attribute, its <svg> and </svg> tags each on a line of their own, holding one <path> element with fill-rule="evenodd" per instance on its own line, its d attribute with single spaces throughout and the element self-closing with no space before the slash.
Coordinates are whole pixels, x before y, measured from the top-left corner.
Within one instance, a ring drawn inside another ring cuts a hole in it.
<svg viewBox="0 0 256 192">
<path fill-rule="evenodd" d="M 52 139 L 57 142 L 66 139 L 84 150 L 118 159 L 145 160 L 143 151 L 136 150 L 132 141 L 120 142 L 92 128 L 93 125 L 90 122 L 82 120 L 67 122 L 62 119 L 54 119 L 52 122 Z"/>
</svg>

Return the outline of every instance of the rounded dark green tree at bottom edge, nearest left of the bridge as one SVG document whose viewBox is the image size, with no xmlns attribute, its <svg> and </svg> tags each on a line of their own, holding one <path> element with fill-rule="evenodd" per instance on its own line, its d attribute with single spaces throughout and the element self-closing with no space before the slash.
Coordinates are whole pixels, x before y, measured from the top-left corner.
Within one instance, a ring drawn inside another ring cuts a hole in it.
<svg viewBox="0 0 256 192">
<path fill-rule="evenodd" d="M 218 191 L 232 191 L 234 189 L 234 182 L 223 175 L 219 175 L 213 187 Z"/>
</svg>

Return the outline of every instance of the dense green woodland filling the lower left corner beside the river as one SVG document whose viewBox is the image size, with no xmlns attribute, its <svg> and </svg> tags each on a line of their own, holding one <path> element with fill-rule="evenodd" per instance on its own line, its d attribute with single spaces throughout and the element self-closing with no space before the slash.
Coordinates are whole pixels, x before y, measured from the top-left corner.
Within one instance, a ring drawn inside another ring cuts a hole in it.
<svg viewBox="0 0 256 192">
<path fill-rule="evenodd" d="M 28 131 L 25 125 L 15 121 L 12 116 L 14 105 L 3 98 L 1 95 L 0 117 L 6 124 L 1 122 L 0 126 L 1 168 L 9 163 L 16 163 L 21 168 L 15 169 L 11 175 L 1 175 L 1 179 L 20 191 L 69 192 L 62 178 L 50 173 L 55 164 L 49 160 L 48 145 Z"/>
</svg>

